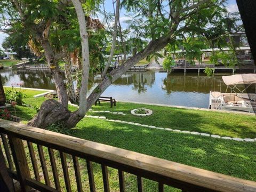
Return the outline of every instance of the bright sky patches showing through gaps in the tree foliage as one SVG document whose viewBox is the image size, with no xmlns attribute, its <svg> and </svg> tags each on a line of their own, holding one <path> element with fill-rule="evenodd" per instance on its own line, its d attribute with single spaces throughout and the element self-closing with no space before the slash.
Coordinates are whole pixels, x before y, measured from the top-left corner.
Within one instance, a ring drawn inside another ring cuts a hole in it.
<svg viewBox="0 0 256 192">
<path fill-rule="evenodd" d="M 109 11 L 112 11 L 113 10 L 113 5 L 112 5 L 112 1 L 110 0 L 107 0 L 106 3 L 105 3 L 105 8 L 106 8 L 106 11 L 109 12 Z M 237 12 L 238 11 L 238 7 L 237 7 L 237 4 L 236 4 L 236 0 L 228 0 L 228 5 L 227 5 L 227 9 L 229 12 L 233 13 L 233 12 Z M 123 22 L 125 20 L 127 20 L 128 18 L 125 16 L 125 12 L 124 10 L 121 10 L 121 13 L 120 13 L 120 22 Z M 3 49 L 2 47 L 2 43 L 4 41 L 4 39 L 7 37 L 6 34 L 3 34 L 0 32 L 0 49 Z"/>
</svg>

